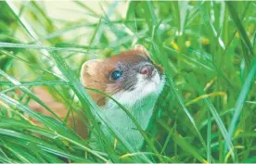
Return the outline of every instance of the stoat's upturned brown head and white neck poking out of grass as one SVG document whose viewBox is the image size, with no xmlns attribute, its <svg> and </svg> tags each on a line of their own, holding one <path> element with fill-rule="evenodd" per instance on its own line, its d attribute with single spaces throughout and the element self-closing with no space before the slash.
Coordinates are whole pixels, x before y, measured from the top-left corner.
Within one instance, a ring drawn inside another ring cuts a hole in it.
<svg viewBox="0 0 256 164">
<path fill-rule="evenodd" d="M 81 69 L 81 81 L 86 87 L 111 95 L 131 112 L 143 130 L 147 129 L 165 82 L 161 67 L 153 63 L 147 49 L 139 44 L 105 60 L 86 61 Z M 104 95 L 92 91 L 89 95 L 129 144 L 141 148 L 144 138 L 123 109 Z M 107 127 L 101 126 L 110 135 Z"/>
</svg>

